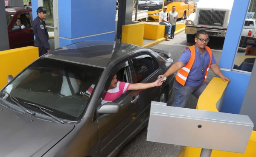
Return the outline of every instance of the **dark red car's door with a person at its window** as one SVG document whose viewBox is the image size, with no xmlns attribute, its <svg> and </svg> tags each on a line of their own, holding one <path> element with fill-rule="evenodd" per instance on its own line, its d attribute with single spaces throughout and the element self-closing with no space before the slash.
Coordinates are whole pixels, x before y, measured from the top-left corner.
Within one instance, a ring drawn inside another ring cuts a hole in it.
<svg viewBox="0 0 256 157">
<path fill-rule="evenodd" d="M 14 26 L 16 25 L 16 19 L 20 18 L 22 21 L 22 24 L 26 27 L 19 30 L 14 30 Z M 32 28 L 32 19 L 31 14 L 28 13 L 22 13 L 19 14 L 16 19 L 10 23 L 12 25 L 11 30 L 9 33 L 9 44 L 10 48 L 21 48 L 25 46 L 32 46 L 34 45 L 34 34 L 33 34 L 33 28 Z"/>
</svg>

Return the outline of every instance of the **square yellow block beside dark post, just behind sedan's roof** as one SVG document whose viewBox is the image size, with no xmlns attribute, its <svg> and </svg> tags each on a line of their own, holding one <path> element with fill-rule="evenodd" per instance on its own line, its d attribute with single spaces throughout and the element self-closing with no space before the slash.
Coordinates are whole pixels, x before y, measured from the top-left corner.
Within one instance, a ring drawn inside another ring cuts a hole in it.
<svg viewBox="0 0 256 157">
<path fill-rule="evenodd" d="M 144 23 L 137 22 L 134 24 L 122 26 L 122 42 L 143 46 Z"/>
</svg>

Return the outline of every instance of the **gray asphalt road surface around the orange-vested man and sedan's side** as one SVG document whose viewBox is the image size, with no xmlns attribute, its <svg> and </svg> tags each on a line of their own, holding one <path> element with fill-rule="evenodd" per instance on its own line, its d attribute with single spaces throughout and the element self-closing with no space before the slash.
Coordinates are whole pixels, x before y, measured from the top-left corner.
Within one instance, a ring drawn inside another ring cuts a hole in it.
<svg viewBox="0 0 256 157">
<path fill-rule="evenodd" d="M 212 48 L 212 52 L 215 56 L 216 62 L 219 62 L 221 57 L 221 51 L 224 44 L 224 39 L 210 38 L 208 46 Z M 177 34 L 174 39 L 161 42 L 152 48 L 160 50 L 167 50 L 172 53 L 174 61 L 181 56 L 186 47 L 193 45 L 186 41 L 186 34 L 181 32 Z M 207 76 L 207 83 L 212 79 L 214 74 L 209 70 Z M 173 98 L 172 98 L 173 100 Z M 189 102 L 186 104 L 186 108 L 195 109 L 197 99 L 192 95 L 189 98 Z M 143 129 L 133 140 L 131 140 L 117 155 L 117 157 L 177 157 L 183 146 L 154 143 L 146 141 L 147 128 Z"/>
</svg>

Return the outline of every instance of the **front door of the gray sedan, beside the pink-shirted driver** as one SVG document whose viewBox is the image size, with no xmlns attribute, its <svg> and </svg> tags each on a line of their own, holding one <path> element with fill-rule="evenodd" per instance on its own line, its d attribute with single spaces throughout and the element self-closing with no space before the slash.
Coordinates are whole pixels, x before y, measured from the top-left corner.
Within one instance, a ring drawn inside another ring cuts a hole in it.
<svg viewBox="0 0 256 157">
<path fill-rule="evenodd" d="M 130 83 L 134 81 L 132 80 L 131 67 L 127 60 L 119 64 L 112 71 L 112 75 L 108 78 L 108 83 L 106 84 L 107 87 L 109 86 L 109 80 L 112 80 L 115 74 L 117 74 L 122 81 Z M 113 101 L 121 106 L 119 113 L 97 115 L 101 156 L 107 156 L 115 149 L 119 149 L 121 144 L 127 140 L 138 127 L 137 123 L 134 125 L 134 121 L 136 121 L 139 106 L 136 101 L 134 103 L 131 101 L 134 100 L 139 93 L 139 91 L 128 90 Z"/>
</svg>

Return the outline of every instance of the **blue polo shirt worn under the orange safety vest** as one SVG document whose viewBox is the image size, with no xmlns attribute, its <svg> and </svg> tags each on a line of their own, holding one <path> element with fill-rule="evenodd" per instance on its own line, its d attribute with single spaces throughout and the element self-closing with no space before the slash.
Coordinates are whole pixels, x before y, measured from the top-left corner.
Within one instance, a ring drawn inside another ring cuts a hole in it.
<svg viewBox="0 0 256 157">
<path fill-rule="evenodd" d="M 191 52 L 188 49 L 186 49 L 183 54 L 180 56 L 178 61 L 182 62 L 184 65 L 186 65 L 189 62 L 189 59 L 191 57 Z M 203 61 L 203 64 L 202 64 Z M 189 72 L 189 76 L 187 77 L 185 86 L 199 86 L 204 82 L 204 75 L 207 70 L 207 66 L 210 62 L 210 55 L 209 52 L 204 48 L 204 57 L 202 57 L 201 52 L 199 51 L 198 47 L 195 45 L 195 62 L 192 65 L 192 68 Z M 216 64 L 215 58 L 212 54 L 212 64 Z M 204 65 L 204 74 L 202 74 L 202 65 Z"/>
</svg>

